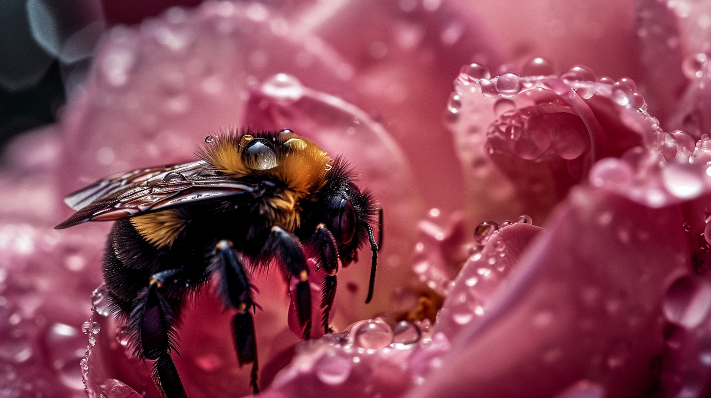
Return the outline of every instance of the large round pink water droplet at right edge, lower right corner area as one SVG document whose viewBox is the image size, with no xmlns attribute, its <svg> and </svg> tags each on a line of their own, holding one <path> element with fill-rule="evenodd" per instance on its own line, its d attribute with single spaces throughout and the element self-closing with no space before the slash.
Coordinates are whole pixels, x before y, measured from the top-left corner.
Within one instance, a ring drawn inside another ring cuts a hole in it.
<svg viewBox="0 0 711 398">
<path fill-rule="evenodd" d="M 711 309 L 711 282 L 699 276 L 683 276 L 670 286 L 664 298 L 664 316 L 671 323 L 695 328 Z"/>
</svg>

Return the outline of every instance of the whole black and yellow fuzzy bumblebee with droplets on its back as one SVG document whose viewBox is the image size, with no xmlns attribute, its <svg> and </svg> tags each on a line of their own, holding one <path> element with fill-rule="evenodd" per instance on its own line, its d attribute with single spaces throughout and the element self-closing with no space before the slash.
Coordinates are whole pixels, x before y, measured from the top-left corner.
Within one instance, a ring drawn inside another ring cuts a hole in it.
<svg viewBox="0 0 711 398">
<path fill-rule="evenodd" d="M 232 339 L 240 366 L 252 364 L 257 387 L 257 343 L 250 273 L 278 264 L 295 278 L 303 338 L 311 333 L 307 254 L 323 279 L 321 327 L 336 295 L 336 271 L 357 261 L 370 243 L 368 298 L 373 297 L 382 209 L 360 190 L 343 158 L 331 159 L 289 129 L 241 131 L 205 139 L 198 161 L 110 176 L 65 198 L 77 212 L 55 228 L 117 220 L 102 273 L 112 313 L 126 323 L 141 360 L 154 360 L 153 379 L 166 398 L 185 397 L 171 352 L 186 298 L 210 276 L 232 308 Z M 379 239 L 380 240 L 380 239 Z"/>
</svg>

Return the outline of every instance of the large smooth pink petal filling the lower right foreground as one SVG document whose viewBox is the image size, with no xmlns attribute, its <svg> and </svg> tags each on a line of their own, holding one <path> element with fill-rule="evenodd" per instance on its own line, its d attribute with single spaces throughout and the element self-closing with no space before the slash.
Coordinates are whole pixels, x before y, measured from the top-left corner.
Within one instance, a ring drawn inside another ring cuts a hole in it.
<svg viewBox="0 0 711 398">
<path fill-rule="evenodd" d="M 685 274 L 678 207 L 576 188 L 481 321 L 407 397 L 550 397 L 587 380 L 641 394 L 664 350 L 663 292 Z"/>
</svg>

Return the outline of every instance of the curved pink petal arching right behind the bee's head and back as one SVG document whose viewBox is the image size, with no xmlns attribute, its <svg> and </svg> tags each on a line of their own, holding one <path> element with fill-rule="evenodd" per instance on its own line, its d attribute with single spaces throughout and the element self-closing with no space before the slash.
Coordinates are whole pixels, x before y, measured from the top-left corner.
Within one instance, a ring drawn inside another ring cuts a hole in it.
<svg viewBox="0 0 711 398">
<path fill-rule="evenodd" d="M 281 84 L 281 83 L 284 84 Z M 342 99 L 304 87 L 294 77 L 277 75 L 255 87 L 243 122 L 259 129 L 292 129 L 312 139 L 331 156 L 343 156 L 358 174 L 361 188 L 372 190 L 383 206 L 385 242 L 378 254 L 373 303 L 364 306 L 370 274 L 370 247 L 365 244 L 357 265 L 338 271 L 339 291 L 353 306 L 338 308 L 334 323 L 343 328 L 388 310 L 392 289 L 410 275 L 415 222 L 421 213 L 405 156 L 380 124 Z M 355 291 L 343 289 L 352 286 Z M 355 295 L 354 295 L 355 294 Z"/>
</svg>

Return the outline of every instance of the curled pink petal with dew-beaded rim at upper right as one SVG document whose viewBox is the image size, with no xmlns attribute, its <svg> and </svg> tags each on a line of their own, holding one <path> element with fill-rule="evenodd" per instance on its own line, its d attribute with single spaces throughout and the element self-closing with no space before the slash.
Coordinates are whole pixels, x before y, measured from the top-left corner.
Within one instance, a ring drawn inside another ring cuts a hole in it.
<svg viewBox="0 0 711 398">
<path fill-rule="evenodd" d="M 635 89 L 629 79 L 598 81 L 582 67 L 560 76 L 492 78 L 481 65 L 464 66 L 447 119 L 464 163 L 471 220 L 521 213 L 545 220 L 597 159 L 652 140 L 653 119 L 639 116 L 646 105 Z"/>
</svg>

